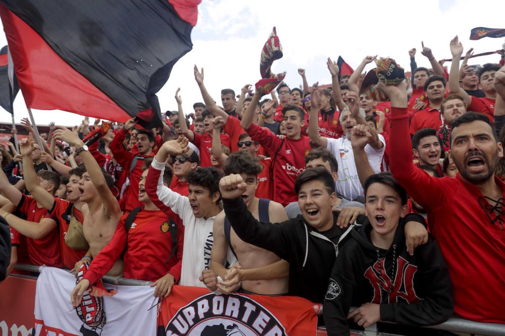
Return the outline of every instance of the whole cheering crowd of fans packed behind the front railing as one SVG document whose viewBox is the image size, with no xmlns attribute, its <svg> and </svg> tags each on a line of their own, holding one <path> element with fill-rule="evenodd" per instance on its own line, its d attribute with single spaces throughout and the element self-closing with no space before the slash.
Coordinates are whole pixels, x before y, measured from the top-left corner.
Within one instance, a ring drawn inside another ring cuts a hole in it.
<svg viewBox="0 0 505 336">
<path fill-rule="evenodd" d="M 409 50 L 412 78 L 395 83 L 364 85 L 376 57 L 345 76 L 328 59 L 329 88 L 298 69 L 300 88 L 223 89 L 222 106 L 195 66 L 203 102 L 185 115 L 177 90 L 152 130 L 86 118 L 37 139 L 24 120 L 19 153 L 0 151 L 6 273 L 73 270 L 74 307 L 114 294 L 104 275 L 165 300 L 174 284 L 299 296 L 323 303 L 329 335 L 505 323 L 503 55 L 460 65 L 458 37 L 449 48 L 448 72 L 424 45 L 432 69 Z"/>
</svg>

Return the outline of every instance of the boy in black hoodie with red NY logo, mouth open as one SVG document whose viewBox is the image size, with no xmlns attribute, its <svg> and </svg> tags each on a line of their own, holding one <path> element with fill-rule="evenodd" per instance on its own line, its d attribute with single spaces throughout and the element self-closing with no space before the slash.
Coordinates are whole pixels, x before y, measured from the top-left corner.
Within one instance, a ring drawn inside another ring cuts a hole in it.
<svg viewBox="0 0 505 336">
<path fill-rule="evenodd" d="M 387 173 L 370 176 L 364 187 L 368 220 L 352 231 L 331 271 L 323 308 L 328 335 L 348 335 L 347 318 L 365 328 L 445 321 L 454 306 L 449 272 L 431 236 L 414 255 L 407 252 L 407 192 Z M 351 305 L 361 307 L 349 312 Z"/>
</svg>

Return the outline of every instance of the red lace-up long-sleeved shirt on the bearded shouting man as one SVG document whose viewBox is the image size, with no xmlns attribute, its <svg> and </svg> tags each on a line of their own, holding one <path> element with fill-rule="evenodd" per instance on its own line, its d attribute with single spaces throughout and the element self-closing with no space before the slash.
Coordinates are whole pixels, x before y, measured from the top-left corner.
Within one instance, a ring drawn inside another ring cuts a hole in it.
<svg viewBox="0 0 505 336">
<path fill-rule="evenodd" d="M 390 169 L 393 176 L 428 212 L 449 268 L 455 312 L 464 318 L 505 323 L 505 230 L 481 204 L 489 206 L 479 188 L 456 178 L 432 178 L 412 162 L 407 108 L 392 108 Z M 505 184 L 495 178 L 501 190 Z M 505 193 L 503 193 L 505 198 Z"/>
</svg>

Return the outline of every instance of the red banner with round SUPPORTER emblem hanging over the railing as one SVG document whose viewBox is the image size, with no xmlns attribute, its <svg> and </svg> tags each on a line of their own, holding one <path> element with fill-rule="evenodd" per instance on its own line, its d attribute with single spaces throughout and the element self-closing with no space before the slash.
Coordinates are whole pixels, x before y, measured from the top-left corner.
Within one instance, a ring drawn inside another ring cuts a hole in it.
<svg viewBox="0 0 505 336">
<path fill-rule="evenodd" d="M 174 286 L 158 314 L 158 336 L 316 335 L 314 304 L 298 297 L 233 293 Z"/>
</svg>

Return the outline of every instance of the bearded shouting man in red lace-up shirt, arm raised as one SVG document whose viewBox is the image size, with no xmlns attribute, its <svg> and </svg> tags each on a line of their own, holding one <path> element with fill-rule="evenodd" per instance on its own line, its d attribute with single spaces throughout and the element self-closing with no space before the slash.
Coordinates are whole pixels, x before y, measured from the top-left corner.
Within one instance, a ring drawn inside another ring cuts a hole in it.
<svg viewBox="0 0 505 336">
<path fill-rule="evenodd" d="M 431 233 L 446 261 L 455 291 L 455 312 L 464 318 L 505 323 L 505 184 L 494 176 L 503 147 L 483 114 L 452 122 L 450 155 L 456 178 L 433 178 L 411 159 L 405 82 L 379 84 L 391 100 L 390 169 L 428 212 Z"/>
</svg>

